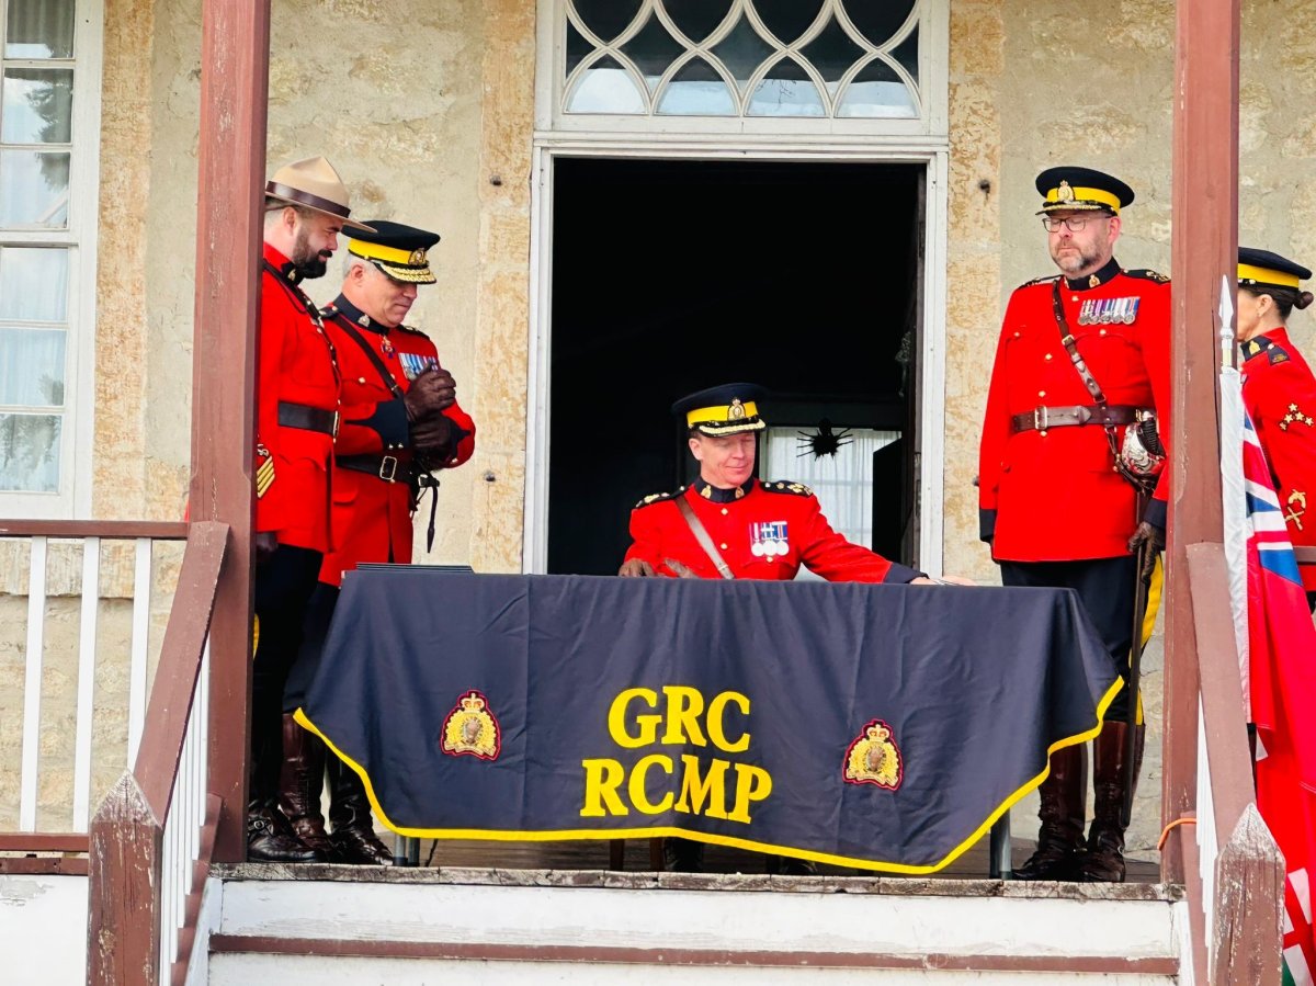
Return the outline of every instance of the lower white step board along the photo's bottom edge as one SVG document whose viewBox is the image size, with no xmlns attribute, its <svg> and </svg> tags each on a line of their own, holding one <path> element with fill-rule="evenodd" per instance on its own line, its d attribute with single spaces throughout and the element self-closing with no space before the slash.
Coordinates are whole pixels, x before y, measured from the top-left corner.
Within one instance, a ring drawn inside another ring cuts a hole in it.
<svg viewBox="0 0 1316 986">
<path fill-rule="evenodd" d="M 1054 973 L 973 973 L 949 970 L 809 969 L 762 966 L 569 965 L 565 962 L 454 962 L 436 960 L 332 958 L 313 956 L 217 954 L 211 958 L 212 986 L 1050 986 L 1100 982 L 1101 986 L 1173 986 L 1170 975 Z"/>
</svg>

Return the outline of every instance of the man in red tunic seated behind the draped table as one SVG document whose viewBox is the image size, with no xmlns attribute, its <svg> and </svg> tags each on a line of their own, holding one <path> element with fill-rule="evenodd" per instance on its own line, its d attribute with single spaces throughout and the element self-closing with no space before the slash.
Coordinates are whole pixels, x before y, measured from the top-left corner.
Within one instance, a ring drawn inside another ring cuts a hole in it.
<svg viewBox="0 0 1316 986">
<path fill-rule="evenodd" d="M 846 541 L 807 486 L 754 478 L 755 432 L 767 427 L 758 412 L 762 392 L 750 383 L 728 383 L 672 404 L 672 413 L 683 416 L 690 429 L 699 479 L 636 504 L 633 544 L 617 574 L 784 581 L 804 565 L 836 582 L 930 583 L 921 573 Z M 692 840 L 666 839 L 663 854 L 671 870 L 703 866 L 703 845 Z M 795 860 L 772 857 L 772 864 L 783 873 L 812 871 L 812 865 Z"/>
</svg>

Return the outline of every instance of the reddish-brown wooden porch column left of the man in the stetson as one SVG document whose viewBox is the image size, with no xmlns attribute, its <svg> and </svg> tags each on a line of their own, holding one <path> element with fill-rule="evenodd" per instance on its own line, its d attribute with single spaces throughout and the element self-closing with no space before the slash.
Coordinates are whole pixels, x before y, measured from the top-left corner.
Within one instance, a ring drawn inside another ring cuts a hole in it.
<svg viewBox="0 0 1316 986">
<path fill-rule="evenodd" d="M 209 787 L 217 862 L 246 856 L 251 691 L 251 457 L 270 0 L 203 0 L 192 520 L 229 525 L 211 621 Z"/>
</svg>

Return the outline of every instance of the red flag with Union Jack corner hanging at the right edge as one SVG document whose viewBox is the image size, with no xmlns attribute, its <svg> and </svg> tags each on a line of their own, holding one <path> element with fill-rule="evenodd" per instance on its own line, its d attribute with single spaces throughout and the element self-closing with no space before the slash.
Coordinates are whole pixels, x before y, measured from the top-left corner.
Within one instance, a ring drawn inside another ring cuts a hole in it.
<svg viewBox="0 0 1316 986">
<path fill-rule="evenodd" d="M 1266 455 L 1244 421 L 1248 491 L 1248 637 L 1257 724 L 1257 808 L 1284 854 L 1284 982 L 1316 972 L 1311 875 L 1316 868 L 1316 628 Z"/>
</svg>

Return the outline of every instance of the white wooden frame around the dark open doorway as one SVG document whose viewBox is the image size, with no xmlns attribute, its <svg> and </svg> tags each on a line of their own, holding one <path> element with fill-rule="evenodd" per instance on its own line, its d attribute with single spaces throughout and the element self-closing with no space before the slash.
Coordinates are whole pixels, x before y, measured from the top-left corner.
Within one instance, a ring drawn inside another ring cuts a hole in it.
<svg viewBox="0 0 1316 986">
<path fill-rule="evenodd" d="M 549 407 L 553 342 L 553 171 L 558 158 L 779 161 L 921 165 L 925 171 L 920 407 L 919 565 L 942 573 L 945 507 L 946 257 L 950 169 L 948 75 L 950 0 L 929 0 L 920 25 L 921 120 L 567 116 L 559 66 L 561 0 L 538 0 L 536 133 L 530 183 L 530 341 L 526 394 L 525 513 L 521 569 L 549 563 Z M 620 559 L 619 559 L 620 563 Z"/>
</svg>

